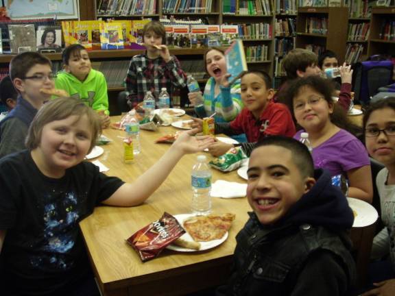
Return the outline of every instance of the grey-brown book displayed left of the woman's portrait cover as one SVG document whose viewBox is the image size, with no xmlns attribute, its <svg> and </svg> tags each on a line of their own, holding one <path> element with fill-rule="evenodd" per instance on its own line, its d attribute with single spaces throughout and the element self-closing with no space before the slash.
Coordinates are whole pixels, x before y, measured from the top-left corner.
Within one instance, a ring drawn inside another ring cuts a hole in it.
<svg viewBox="0 0 395 296">
<path fill-rule="evenodd" d="M 29 25 L 8 25 L 11 53 L 36 51 L 36 28 Z"/>
</svg>

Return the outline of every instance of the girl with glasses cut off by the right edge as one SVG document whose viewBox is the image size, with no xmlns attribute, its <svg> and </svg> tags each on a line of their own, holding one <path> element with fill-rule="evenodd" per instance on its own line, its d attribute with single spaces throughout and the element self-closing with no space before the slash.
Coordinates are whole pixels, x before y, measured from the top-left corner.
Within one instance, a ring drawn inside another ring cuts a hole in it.
<svg viewBox="0 0 395 296">
<path fill-rule="evenodd" d="M 390 253 L 390 261 L 372 264 L 376 278 L 371 280 L 377 282 L 363 295 L 395 295 L 395 97 L 377 101 L 366 110 L 363 131 L 370 156 L 385 165 L 376 177 L 385 227 L 373 240 L 372 258 Z"/>
</svg>

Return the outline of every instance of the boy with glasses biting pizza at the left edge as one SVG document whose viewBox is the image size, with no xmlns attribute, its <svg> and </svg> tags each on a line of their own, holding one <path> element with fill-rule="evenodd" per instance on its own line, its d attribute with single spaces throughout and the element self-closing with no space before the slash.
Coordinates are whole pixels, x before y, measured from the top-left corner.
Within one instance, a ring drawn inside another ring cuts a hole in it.
<svg viewBox="0 0 395 296">
<path fill-rule="evenodd" d="M 26 149 L 25 137 L 37 110 L 51 95 L 54 87 L 52 63 L 36 52 L 25 52 L 12 58 L 10 77 L 19 97 L 15 108 L 0 122 L 0 158 Z"/>
</svg>

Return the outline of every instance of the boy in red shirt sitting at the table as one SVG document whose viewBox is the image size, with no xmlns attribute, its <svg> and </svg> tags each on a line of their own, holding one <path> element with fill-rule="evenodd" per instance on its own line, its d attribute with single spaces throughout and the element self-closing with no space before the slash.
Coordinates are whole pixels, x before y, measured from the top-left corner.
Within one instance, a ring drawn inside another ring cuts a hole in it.
<svg viewBox="0 0 395 296">
<path fill-rule="evenodd" d="M 248 142 L 226 144 L 217 141 L 208 147 L 213 156 L 221 156 L 234 146 L 241 146 L 249 156 L 255 143 L 266 136 L 294 136 L 296 129 L 287 106 L 271 101 L 274 95 L 271 84 L 272 79 L 263 71 L 248 71 L 241 76 L 244 109 L 230 123 L 215 123 L 215 134 L 246 134 Z M 202 124 L 200 119 L 194 121 Z"/>
</svg>

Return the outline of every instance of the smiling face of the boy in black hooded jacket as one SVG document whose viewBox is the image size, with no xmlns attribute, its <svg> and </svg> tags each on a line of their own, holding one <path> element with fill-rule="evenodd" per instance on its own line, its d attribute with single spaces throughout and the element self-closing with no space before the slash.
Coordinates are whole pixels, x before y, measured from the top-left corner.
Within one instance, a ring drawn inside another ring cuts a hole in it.
<svg viewBox="0 0 395 296">
<path fill-rule="evenodd" d="M 312 177 L 302 177 L 293 157 L 289 149 L 274 145 L 251 153 L 247 198 L 262 224 L 281 219 L 315 184 Z"/>
</svg>

